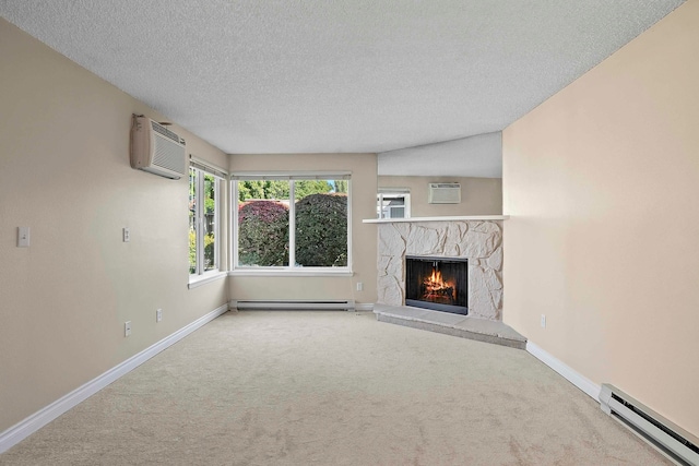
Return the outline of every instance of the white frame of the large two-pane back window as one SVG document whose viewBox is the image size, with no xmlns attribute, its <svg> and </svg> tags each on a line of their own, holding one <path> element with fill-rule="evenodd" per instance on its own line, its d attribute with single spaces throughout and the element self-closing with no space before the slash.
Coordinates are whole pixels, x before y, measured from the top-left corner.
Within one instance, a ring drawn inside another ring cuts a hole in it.
<svg viewBox="0 0 699 466">
<path fill-rule="evenodd" d="M 347 181 L 347 265 L 344 267 L 300 267 L 295 263 L 295 188 L 289 182 L 289 261 L 285 266 L 240 265 L 238 263 L 238 181 L 245 180 L 346 180 Z M 230 176 L 230 272 L 228 275 L 264 276 L 352 276 L 352 174 L 348 171 L 264 171 L 236 172 Z"/>
</svg>

